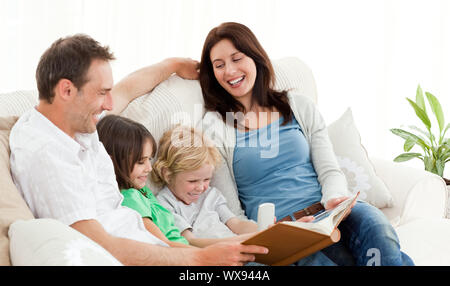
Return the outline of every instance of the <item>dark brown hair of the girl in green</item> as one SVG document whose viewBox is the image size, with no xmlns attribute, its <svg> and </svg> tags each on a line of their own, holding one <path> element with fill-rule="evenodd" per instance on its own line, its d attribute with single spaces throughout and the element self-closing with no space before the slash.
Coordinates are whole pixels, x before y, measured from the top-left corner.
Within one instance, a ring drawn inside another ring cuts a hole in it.
<svg viewBox="0 0 450 286">
<path fill-rule="evenodd" d="M 142 158 L 146 140 L 152 145 L 152 157 L 156 153 L 156 142 L 144 125 L 118 115 L 107 115 L 97 124 L 100 141 L 105 146 L 114 164 L 119 188 L 133 188 L 130 174 L 134 164 Z"/>
</svg>

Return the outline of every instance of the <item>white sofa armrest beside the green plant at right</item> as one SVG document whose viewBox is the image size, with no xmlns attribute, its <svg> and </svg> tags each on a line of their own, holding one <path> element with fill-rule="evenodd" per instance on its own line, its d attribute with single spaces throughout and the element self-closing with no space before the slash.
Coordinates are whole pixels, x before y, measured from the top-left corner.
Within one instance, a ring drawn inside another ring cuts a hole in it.
<svg viewBox="0 0 450 286">
<path fill-rule="evenodd" d="M 394 206 L 382 209 L 397 225 L 416 218 L 443 218 L 447 214 L 444 180 L 425 170 L 371 158 L 375 172 L 392 194 Z"/>
</svg>

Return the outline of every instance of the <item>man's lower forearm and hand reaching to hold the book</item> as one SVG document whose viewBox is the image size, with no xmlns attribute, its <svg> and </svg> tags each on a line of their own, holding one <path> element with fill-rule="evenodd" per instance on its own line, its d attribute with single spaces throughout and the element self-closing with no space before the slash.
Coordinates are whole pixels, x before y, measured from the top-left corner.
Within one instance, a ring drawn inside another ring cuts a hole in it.
<svg viewBox="0 0 450 286">
<path fill-rule="evenodd" d="M 264 254 L 265 247 L 240 243 L 217 243 L 207 248 L 170 248 L 109 235 L 96 220 L 71 225 L 105 248 L 124 265 L 232 265 L 253 261 L 253 253 Z"/>
</svg>

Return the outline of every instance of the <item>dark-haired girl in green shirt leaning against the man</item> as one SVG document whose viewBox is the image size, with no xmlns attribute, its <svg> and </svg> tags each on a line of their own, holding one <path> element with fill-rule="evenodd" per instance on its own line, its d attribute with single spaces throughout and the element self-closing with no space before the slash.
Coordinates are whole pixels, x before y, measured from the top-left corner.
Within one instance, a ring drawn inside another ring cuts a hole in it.
<svg viewBox="0 0 450 286">
<path fill-rule="evenodd" d="M 150 159 L 155 155 L 156 143 L 150 132 L 140 123 L 108 115 L 97 124 L 100 141 L 110 155 L 117 183 L 124 200 L 122 205 L 136 210 L 149 232 L 171 247 L 188 247 L 174 225 L 172 214 L 156 200 L 145 185 L 152 170 Z"/>
</svg>

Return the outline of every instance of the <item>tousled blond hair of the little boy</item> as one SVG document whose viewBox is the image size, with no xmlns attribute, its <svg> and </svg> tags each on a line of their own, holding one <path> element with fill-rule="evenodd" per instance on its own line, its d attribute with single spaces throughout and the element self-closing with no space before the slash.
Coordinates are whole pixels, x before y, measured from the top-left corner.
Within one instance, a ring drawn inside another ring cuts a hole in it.
<svg viewBox="0 0 450 286">
<path fill-rule="evenodd" d="M 166 131 L 159 140 L 151 180 L 164 186 L 178 173 L 197 170 L 204 164 L 217 167 L 220 161 L 219 151 L 201 132 L 192 127 L 177 125 Z M 166 170 L 167 180 L 163 169 Z"/>
</svg>

